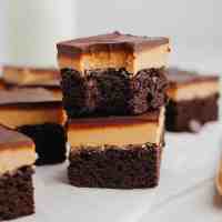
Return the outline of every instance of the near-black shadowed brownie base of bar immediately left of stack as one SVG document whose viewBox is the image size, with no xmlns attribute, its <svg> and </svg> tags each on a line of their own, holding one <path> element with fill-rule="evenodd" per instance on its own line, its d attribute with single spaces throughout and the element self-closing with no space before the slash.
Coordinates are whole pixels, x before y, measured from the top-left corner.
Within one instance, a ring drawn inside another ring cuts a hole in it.
<svg viewBox="0 0 222 222">
<path fill-rule="evenodd" d="M 65 161 L 67 133 L 60 124 L 22 125 L 18 130 L 34 141 L 38 153 L 37 165 Z"/>
</svg>

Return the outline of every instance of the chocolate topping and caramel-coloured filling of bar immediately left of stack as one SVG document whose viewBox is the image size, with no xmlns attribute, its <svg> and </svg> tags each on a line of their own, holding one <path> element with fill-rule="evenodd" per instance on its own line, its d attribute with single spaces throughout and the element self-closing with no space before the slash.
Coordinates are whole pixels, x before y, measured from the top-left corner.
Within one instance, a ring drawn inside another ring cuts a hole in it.
<svg viewBox="0 0 222 222">
<path fill-rule="evenodd" d="M 46 122 L 64 124 L 61 101 L 44 89 L 0 91 L 0 123 L 10 128 Z"/>
</svg>

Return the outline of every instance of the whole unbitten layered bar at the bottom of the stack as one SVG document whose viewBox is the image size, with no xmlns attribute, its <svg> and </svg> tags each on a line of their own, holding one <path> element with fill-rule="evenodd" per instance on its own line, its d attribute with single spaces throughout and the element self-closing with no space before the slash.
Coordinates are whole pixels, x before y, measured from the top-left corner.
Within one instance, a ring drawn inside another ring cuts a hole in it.
<svg viewBox="0 0 222 222">
<path fill-rule="evenodd" d="M 70 120 L 70 183 L 111 189 L 157 186 L 163 133 L 164 108 L 134 117 Z"/>
</svg>

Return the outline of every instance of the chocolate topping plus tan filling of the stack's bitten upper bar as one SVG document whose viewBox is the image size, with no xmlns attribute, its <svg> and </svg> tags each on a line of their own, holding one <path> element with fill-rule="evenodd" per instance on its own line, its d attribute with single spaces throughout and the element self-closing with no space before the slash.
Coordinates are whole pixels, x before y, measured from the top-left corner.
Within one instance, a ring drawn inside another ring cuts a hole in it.
<svg viewBox="0 0 222 222">
<path fill-rule="evenodd" d="M 121 69 L 131 74 L 167 65 L 168 38 L 148 38 L 113 32 L 58 43 L 59 68 L 87 70 Z"/>
</svg>

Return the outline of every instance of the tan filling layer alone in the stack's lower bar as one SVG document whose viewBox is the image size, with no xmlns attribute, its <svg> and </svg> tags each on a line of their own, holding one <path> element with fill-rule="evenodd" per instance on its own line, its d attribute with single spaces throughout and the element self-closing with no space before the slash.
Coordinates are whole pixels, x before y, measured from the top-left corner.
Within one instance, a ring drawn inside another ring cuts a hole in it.
<svg viewBox="0 0 222 222">
<path fill-rule="evenodd" d="M 134 118 L 134 117 L 132 117 Z M 92 145 L 103 148 L 104 144 L 119 145 L 144 144 L 162 142 L 164 123 L 164 110 L 161 110 L 159 120 L 134 122 L 132 124 L 114 123 L 88 125 L 74 123 L 74 120 L 68 127 L 68 141 L 72 149 L 81 145 Z"/>
</svg>

